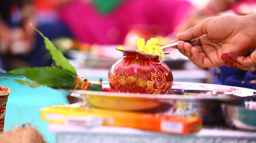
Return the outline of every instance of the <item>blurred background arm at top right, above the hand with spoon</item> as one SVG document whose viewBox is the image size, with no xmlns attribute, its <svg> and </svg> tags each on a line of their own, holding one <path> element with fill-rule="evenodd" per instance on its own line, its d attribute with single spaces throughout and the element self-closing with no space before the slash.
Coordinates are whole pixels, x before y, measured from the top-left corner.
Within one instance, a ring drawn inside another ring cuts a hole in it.
<svg viewBox="0 0 256 143">
<path fill-rule="evenodd" d="M 229 11 L 229 12 L 228 12 Z M 222 14 L 248 15 L 256 14 L 255 0 L 210 0 L 202 9 L 194 9 L 188 18 L 175 29 L 175 33 L 188 30 L 206 19 L 207 17 Z"/>
</svg>

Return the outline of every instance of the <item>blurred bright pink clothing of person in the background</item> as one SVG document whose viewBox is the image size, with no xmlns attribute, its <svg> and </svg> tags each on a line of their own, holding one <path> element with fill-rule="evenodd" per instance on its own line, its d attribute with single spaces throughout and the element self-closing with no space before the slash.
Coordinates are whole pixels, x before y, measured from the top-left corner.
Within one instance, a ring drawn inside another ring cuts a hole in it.
<svg viewBox="0 0 256 143">
<path fill-rule="evenodd" d="M 61 5 L 59 12 L 77 40 L 90 44 L 123 44 L 134 25 L 154 25 L 162 36 L 172 34 L 193 8 L 187 1 L 126 0 L 120 1 L 112 11 L 101 13 L 90 1 L 69 0 Z"/>
</svg>

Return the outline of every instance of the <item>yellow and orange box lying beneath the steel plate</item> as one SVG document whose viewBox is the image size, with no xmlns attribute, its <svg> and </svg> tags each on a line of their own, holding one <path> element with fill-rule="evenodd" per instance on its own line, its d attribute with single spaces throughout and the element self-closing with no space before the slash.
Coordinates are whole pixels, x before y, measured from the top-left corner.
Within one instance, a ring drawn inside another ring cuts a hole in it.
<svg viewBox="0 0 256 143">
<path fill-rule="evenodd" d="M 41 108 L 41 120 L 87 127 L 98 125 L 131 127 L 173 134 L 189 134 L 202 128 L 200 118 L 67 106 Z"/>
</svg>

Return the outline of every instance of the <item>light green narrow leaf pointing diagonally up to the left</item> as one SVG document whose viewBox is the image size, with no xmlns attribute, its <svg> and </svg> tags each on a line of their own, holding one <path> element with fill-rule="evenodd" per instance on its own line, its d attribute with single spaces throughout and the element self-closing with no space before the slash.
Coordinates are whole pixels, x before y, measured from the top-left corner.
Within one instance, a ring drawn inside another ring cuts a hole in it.
<svg viewBox="0 0 256 143">
<path fill-rule="evenodd" d="M 37 30 L 32 24 L 30 26 L 38 32 L 42 38 L 45 40 L 46 48 L 50 51 L 52 59 L 55 61 L 55 64 L 63 69 L 66 69 L 74 74 L 76 74 L 76 69 L 70 64 L 67 58 L 53 45 L 53 43 L 44 36 L 39 30 Z"/>
</svg>

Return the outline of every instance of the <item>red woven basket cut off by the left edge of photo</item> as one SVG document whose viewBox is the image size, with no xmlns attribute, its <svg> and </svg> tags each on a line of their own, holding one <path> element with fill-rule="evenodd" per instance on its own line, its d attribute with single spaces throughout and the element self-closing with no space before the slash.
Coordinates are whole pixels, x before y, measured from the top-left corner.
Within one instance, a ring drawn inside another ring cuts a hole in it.
<svg viewBox="0 0 256 143">
<path fill-rule="evenodd" d="M 5 125 L 5 108 L 9 94 L 11 91 L 9 88 L 0 86 L 0 133 L 4 131 Z"/>
</svg>

